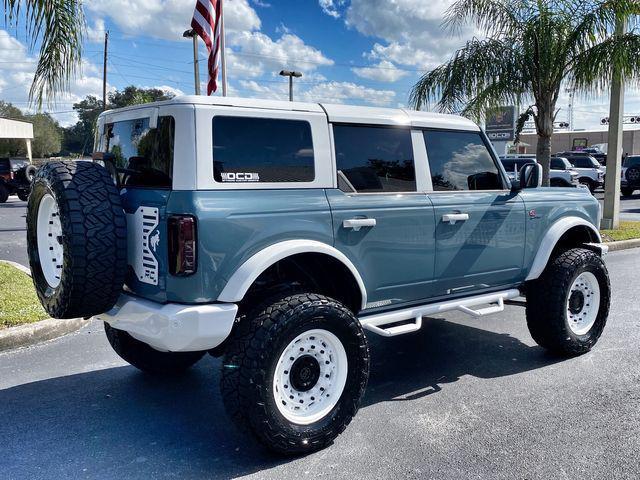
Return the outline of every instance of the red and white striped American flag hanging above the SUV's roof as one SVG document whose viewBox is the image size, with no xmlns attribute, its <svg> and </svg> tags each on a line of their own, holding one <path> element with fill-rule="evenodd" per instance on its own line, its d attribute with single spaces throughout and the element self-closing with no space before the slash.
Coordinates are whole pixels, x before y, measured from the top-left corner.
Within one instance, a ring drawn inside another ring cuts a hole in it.
<svg viewBox="0 0 640 480">
<path fill-rule="evenodd" d="M 195 30 L 209 50 L 209 83 L 207 95 L 218 89 L 218 70 L 220 66 L 220 41 L 222 22 L 222 0 L 198 0 L 191 20 Z"/>
</svg>

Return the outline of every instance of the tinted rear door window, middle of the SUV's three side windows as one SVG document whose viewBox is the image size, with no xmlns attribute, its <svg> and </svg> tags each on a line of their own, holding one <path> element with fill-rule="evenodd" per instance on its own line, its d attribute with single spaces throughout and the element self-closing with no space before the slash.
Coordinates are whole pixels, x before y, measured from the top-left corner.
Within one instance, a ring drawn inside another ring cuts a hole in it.
<svg viewBox="0 0 640 480">
<path fill-rule="evenodd" d="M 338 186 L 353 192 L 413 192 L 416 173 L 411 131 L 335 125 Z"/>
</svg>

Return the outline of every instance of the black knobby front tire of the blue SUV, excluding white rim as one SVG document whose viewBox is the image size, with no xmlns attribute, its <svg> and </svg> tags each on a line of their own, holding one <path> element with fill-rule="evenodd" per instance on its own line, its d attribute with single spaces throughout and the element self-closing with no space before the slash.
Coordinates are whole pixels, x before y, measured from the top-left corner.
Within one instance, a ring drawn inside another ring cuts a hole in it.
<svg viewBox="0 0 640 480">
<path fill-rule="evenodd" d="M 573 281 L 591 272 L 600 287 L 600 305 L 595 323 L 584 335 L 569 328 L 567 299 Z M 535 342 L 556 354 L 576 356 L 596 344 L 609 316 L 611 286 L 602 258 L 584 248 L 574 248 L 552 258 L 542 276 L 527 284 L 527 326 Z"/>
</svg>

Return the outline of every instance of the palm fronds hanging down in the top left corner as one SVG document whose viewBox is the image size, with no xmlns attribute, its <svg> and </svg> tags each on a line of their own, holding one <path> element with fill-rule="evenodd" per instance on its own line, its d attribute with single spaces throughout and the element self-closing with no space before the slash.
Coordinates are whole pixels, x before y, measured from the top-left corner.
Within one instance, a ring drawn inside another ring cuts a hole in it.
<svg viewBox="0 0 640 480">
<path fill-rule="evenodd" d="M 85 31 L 82 0 L 4 0 L 4 9 L 11 23 L 23 12 L 31 46 L 40 43 L 29 98 L 41 107 L 43 101 L 68 91 L 80 67 Z"/>
</svg>

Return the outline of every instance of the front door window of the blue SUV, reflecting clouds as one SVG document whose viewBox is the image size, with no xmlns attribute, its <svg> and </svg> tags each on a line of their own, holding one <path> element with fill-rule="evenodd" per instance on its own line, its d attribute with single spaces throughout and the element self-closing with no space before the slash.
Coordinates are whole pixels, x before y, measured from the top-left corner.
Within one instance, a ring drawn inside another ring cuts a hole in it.
<svg viewBox="0 0 640 480">
<path fill-rule="evenodd" d="M 498 167 L 480 134 L 425 130 L 424 140 L 434 190 L 502 189 Z"/>
</svg>

